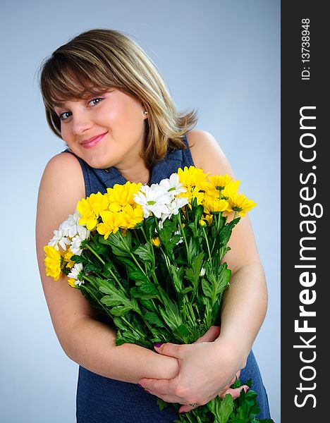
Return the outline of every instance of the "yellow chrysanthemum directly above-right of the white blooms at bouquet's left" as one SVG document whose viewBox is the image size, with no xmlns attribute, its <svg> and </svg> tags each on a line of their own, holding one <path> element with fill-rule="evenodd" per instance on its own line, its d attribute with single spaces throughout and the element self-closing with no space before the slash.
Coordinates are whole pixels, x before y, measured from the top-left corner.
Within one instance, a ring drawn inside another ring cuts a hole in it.
<svg viewBox="0 0 330 423">
<path fill-rule="evenodd" d="M 104 212 L 108 206 L 108 197 L 101 192 L 93 193 L 86 199 L 82 198 L 77 204 L 78 212 L 81 214 L 79 224 L 86 225 L 87 229 L 92 231 L 97 226 L 97 219 L 101 212 Z"/>
</svg>

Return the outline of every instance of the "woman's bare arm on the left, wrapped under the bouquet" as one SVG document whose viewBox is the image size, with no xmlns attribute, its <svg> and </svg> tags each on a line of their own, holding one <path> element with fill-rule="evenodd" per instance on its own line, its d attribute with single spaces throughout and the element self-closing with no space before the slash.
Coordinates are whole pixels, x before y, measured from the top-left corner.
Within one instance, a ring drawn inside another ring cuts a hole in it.
<svg viewBox="0 0 330 423">
<path fill-rule="evenodd" d="M 66 153 L 51 159 L 39 187 L 36 247 L 44 295 L 64 352 L 83 367 L 111 379 L 137 383 L 141 377 L 176 376 L 175 358 L 138 345 L 116 346 L 116 331 L 97 319 L 80 290 L 68 286 L 66 277 L 54 281 L 45 275 L 43 246 L 53 236 L 54 229 L 74 212 L 82 197 L 85 188 L 78 160 Z"/>
</svg>

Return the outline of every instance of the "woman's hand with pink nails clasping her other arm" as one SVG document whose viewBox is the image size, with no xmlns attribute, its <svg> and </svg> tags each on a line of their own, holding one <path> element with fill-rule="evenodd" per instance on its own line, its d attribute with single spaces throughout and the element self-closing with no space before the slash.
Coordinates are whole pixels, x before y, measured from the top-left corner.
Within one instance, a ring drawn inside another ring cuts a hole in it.
<svg viewBox="0 0 330 423">
<path fill-rule="evenodd" d="M 212 326 L 193 344 L 162 344 L 155 348 L 162 355 L 176 357 L 179 373 L 173 379 L 140 379 L 138 382 L 152 395 L 162 398 L 167 403 L 180 403 L 179 412 L 193 410 L 187 404 L 206 404 L 217 395 L 223 397 L 231 393 L 237 398 L 242 388 L 230 389 L 229 386 L 239 376 L 235 350 L 227 341 L 214 343 L 219 336 L 219 326 Z M 207 357 L 207 361 L 205 358 Z M 233 376 L 234 374 L 234 376 Z"/>
</svg>

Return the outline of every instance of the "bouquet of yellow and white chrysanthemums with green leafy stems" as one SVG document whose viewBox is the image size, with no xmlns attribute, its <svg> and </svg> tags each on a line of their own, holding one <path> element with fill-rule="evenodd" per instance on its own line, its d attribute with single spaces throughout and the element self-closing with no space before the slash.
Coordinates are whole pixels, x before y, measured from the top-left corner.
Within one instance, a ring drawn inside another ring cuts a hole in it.
<svg viewBox="0 0 330 423">
<path fill-rule="evenodd" d="M 46 273 L 55 281 L 66 274 L 109 317 L 116 345 L 193 343 L 219 324 L 228 240 L 256 205 L 238 185 L 190 166 L 150 187 L 127 182 L 91 194 L 44 246 Z M 177 422 L 260 422 L 256 397 L 251 389 L 236 400 L 216 397 Z"/>
</svg>

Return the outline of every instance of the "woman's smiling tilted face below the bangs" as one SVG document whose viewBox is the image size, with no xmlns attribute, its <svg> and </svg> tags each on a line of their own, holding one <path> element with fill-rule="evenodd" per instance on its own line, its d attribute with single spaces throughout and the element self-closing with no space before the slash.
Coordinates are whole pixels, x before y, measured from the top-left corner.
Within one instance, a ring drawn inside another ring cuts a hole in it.
<svg viewBox="0 0 330 423">
<path fill-rule="evenodd" d="M 111 90 L 54 109 L 68 148 L 90 166 L 121 169 L 141 161 L 147 115 L 137 99 Z"/>
</svg>

